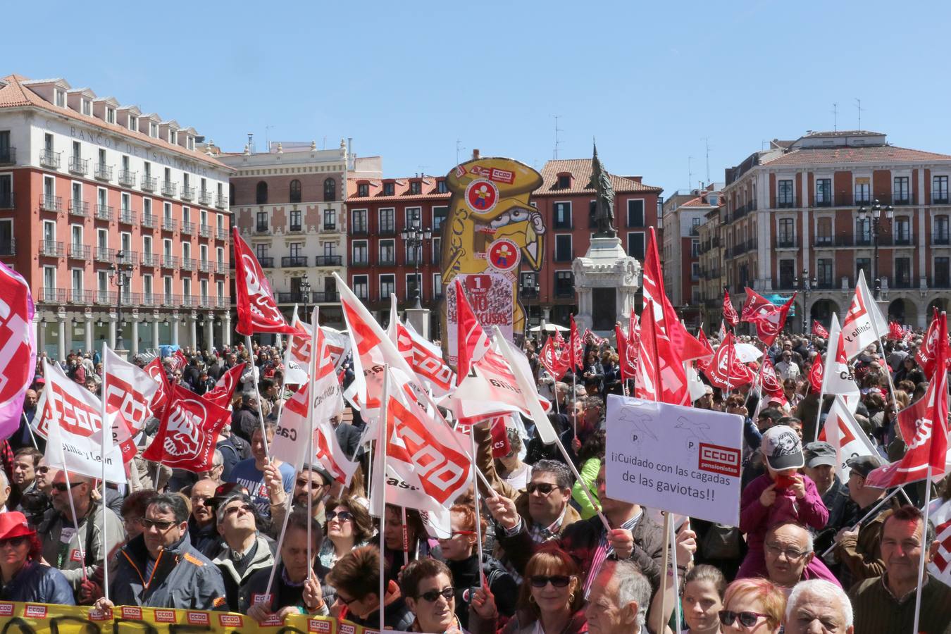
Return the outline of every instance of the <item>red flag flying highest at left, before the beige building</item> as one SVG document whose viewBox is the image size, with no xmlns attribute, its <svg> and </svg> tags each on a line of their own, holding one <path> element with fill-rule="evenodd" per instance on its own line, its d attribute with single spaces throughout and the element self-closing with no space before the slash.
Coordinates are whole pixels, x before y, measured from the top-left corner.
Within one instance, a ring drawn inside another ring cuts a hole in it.
<svg viewBox="0 0 951 634">
<path fill-rule="evenodd" d="M 241 335 L 296 335 L 297 331 L 278 310 L 261 263 L 238 233 L 238 227 L 231 230 L 231 239 L 235 244 L 235 290 L 238 292 L 238 327 L 235 330 Z"/>
</svg>

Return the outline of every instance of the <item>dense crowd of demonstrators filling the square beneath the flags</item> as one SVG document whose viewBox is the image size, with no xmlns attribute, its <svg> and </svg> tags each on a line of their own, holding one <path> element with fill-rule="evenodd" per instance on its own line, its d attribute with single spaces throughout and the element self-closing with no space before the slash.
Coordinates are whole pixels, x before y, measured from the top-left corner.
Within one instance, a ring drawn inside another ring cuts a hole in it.
<svg viewBox="0 0 951 634">
<path fill-rule="evenodd" d="M 892 634 L 911 631 L 922 592 L 920 631 L 951 632 L 951 587 L 930 574 L 919 583 L 922 558 L 936 552 L 924 483 L 879 509 L 886 491 L 864 486 L 906 450 L 896 411 L 924 394 L 914 354 L 921 338 L 888 341 L 883 354 L 869 349 L 852 364 L 862 389 L 856 419 L 879 455 L 851 459 L 847 482 L 834 448 L 814 440 L 830 402 L 809 390 L 807 375 L 824 340 L 780 336 L 765 351 L 785 398 L 708 386 L 694 407 L 745 421 L 740 526 L 686 518 L 668 553 L 661 512 L 606 490 L 606 399 L 631 386 L 605 341 L 587 345 L 575 375 L 557 377 L 538 361 L 541 341 L 525 342 L 568 455 L 525 419 L 506 430 L 509 453 L 494 457 L 489 424 L 476 424 L 486 480 L 479 508 L 475 491 L 456 500 L 442 538 L 415 509 L 390 505 L 378 534 L 364 478 L 366 425 L 349 407 L 331 421 L 343 451 L 361 462 L 347 486 L 318 466 L 296 471 L 269 459 L 290 394 L 275 346 L 184 349 L 184 365 L 166 358 L 169 381 L 197 394 L 249 362 L 212 469 L 170 470 L 139 455 L 128 486 L 109 485 L 105 495 L 97 481 L 47 464 L 30 427 L 44 389 L 38 366 L 20 430 L 0 448 L 0 600 L 230 610 L 259 622 L 332 615 L 372 627 L 382 609 L 395 630 L 476 634 L 672 633 L 676 604 L 689 634 Z M 98 354 L 71 354 L 61 365 L 101 391 Z M 342 376 L 352 380 L 348 366 Z M 149 421 L 137 438 L 140 454 L 157 427 Z M 951 480 L 932 499 L 951 499 Z"/>
</svg>

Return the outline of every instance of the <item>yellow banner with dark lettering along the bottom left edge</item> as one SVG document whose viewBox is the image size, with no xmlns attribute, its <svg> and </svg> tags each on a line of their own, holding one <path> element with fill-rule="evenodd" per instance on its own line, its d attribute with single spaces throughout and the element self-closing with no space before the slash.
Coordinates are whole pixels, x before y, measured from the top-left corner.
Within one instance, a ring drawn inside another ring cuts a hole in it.
<svg viewBox="0 0 951 634">
<path fill-rule="evenodd" d="M 258 624 L 244 614 L 233 612 L 122 605 L 104 614 L 89 606 L 10 602 L 0 602 L 0 631 L 15 634 L 378 633 L 349 621 L 303 614 L 291 615 L 283 622 Z"/>
</svg>

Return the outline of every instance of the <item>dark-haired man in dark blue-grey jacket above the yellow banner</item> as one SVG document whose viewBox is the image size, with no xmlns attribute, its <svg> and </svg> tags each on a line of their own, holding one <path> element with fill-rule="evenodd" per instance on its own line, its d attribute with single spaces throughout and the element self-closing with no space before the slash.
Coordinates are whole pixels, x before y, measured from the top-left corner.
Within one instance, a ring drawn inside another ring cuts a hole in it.
<svg viewBox="0 0 951 634">
<path fill-rule="evenodd" d="M 116 573 L 109 577 L 112 600 L 100 599 L 96 607 L 226 610 L 221 570 L 188 541 L 184 497 L 177 493 L 157 495 L 148 504 L 142 524 L 145 531 L 116 557 Z"/>
</svg>

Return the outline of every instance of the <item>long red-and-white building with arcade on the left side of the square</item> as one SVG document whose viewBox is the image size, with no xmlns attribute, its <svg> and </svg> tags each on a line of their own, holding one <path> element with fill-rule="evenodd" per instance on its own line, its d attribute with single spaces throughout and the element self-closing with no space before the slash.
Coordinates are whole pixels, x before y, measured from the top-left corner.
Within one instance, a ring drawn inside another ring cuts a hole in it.
<svg viewBox="0 0 951 634">
<path fill-rule="evenodd" d="M 0 258 L 40 350 L 229 341 L 230 169 L 201 140 L 64 79 L 0 80 Z"/>
</svg>

